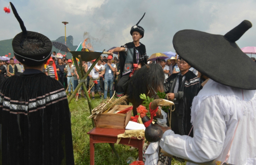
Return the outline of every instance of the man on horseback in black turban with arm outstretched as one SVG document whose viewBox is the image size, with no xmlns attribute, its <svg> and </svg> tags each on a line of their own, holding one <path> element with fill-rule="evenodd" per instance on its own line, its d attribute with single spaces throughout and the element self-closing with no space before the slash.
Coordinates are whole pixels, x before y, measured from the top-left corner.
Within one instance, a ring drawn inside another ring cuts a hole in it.
<svg viewBox="0 0 256 165">
<path fill-rule="evenodd" d="M 130 34 L 133 36 L 133 42 L 109 50 L 111 55 L 113 52 L 119 52 L 120 74 L 118 78 L 120 77 L 120 79 L 116 89 L 117 97 L 122 96 L 125 92 L 133 70 L 137 70 L 147 63 L 146 47 L 140 43 L 140 39 L 144 37 L 144 29 L 138 25 L 142 18 L 131 28 Z"/>
</svg>

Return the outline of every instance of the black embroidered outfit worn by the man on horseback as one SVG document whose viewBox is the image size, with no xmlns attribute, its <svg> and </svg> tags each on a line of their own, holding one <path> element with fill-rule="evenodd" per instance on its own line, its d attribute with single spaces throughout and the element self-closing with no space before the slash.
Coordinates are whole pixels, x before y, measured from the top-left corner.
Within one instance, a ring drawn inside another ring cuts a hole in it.
<svg viewBox="0 0 256 165">
<path fill-rule="evenodd" d="M 135 49 L 138 49 L 138 51 L 139 51 L 139 63 L 138 64 L 141 64 L 141 66 L 144 66 L 147 63 L 145 45 L 140 43 L 140 46 L 136 47 L 133 42 L 129 42 L 129 43 L 126 43 L 125 45 L 123 45 L 121 47 L 124 47 L 124 46 L 126 46 L 127 48 L 134 48 L 134 53 L 133 53 L 133 63 L 134 64 L 137 64 L 137 62 L 136 62 L 137 57 L 136 57 Z M 120 51 L 119 52 L 119 63 L 120 63 L 120 73 L 121 74 L 120 74 L 120 76 L 118 76 L 118 78 L 122 77 L 126 56 L 127 56 L 126 51 Z"/>
</svg>

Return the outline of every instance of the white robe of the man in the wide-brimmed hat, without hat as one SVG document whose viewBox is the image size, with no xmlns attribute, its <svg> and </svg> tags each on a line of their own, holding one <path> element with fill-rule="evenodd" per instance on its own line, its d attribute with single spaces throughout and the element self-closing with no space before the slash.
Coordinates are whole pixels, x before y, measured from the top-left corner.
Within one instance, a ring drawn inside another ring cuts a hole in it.
<svg viewBox="0 0 256 165">
<path fill-rule="evenodd" d="M 209 79 L 192 103 L 194 137 L 166 130 L 160 147 L 194 162 L 223 162 L 234 137 L 226 162 L 256 164 L 255 117 L 255 90 L 232 88 Z"/>
</svg>

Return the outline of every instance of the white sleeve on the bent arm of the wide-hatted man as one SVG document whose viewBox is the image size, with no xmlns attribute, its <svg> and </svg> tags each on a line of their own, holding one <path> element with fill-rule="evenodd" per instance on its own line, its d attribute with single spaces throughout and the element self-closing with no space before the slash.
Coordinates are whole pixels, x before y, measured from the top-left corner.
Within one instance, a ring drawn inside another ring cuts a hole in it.
<svg viewBox="0 0 256 165">
<path fill-rule="evenodd" d="M 201 102 L 194 119 L 194 137 L 165 131 L 161 148 L 169 154 L 195 162 L 216 159 L 222 152 L 226 124 L 216 100 L 211 97 Z"/>
</svg>

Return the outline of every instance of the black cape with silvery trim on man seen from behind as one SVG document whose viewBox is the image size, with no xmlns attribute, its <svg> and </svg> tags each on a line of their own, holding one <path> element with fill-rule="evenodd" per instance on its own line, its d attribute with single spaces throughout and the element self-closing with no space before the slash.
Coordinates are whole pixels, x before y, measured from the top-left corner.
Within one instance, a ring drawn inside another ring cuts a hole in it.
<svg viewBox="0 0 256 165">
<path fill-rule="evenodd" d="M 59 81 L 44 73 L 11 76 L 0 96 L 0 164 L 74 164 L 69 104 Z"/>
</svg>

